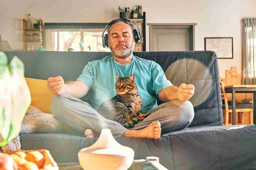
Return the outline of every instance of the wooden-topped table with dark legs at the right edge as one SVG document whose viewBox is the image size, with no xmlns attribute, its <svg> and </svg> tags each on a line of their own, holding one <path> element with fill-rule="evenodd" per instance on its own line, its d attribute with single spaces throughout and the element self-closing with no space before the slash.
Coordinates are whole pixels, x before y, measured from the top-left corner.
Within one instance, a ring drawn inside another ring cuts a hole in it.
<svg viewBox="0 0 256 170">
<path fill-rule="evenodd" d="M 232 124 L 236 124 L 236 93 L 253 93 L 253 124 L 256 124 L 256 85 L 225 86 L 226 93 L 232 93 Z"/>
</svg>

